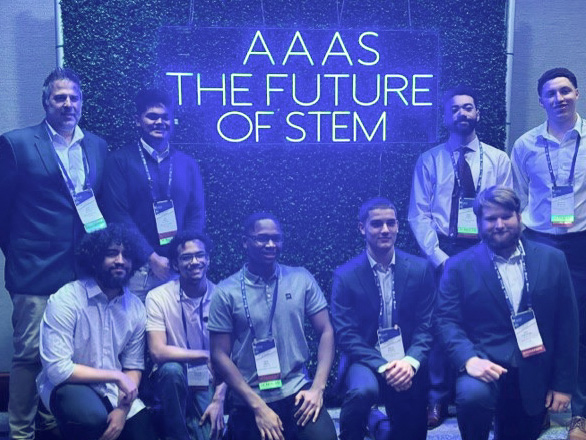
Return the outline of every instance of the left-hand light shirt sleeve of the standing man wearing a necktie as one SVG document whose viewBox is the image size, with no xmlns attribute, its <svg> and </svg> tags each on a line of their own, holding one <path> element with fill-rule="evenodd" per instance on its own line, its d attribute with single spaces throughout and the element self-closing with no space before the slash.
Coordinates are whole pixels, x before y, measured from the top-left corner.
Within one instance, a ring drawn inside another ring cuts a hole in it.
<svg viewBox="0 0 586 440">
<path fill-rule="evenodd" d="M 423 156 L 419 156 L 413 172 L 408 219 L 419 247 L 433 266 L 437 267 L 448 259 L 448 255 L 439 247 L 431 212 L 432 198 L 433 187 L 429 170 L 423 162 Z"/>
</svg>

